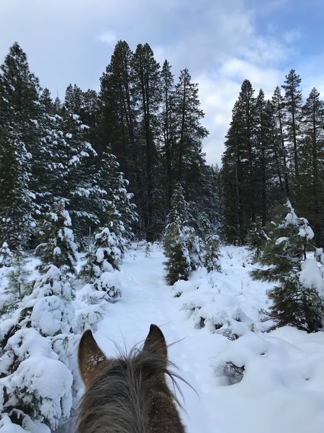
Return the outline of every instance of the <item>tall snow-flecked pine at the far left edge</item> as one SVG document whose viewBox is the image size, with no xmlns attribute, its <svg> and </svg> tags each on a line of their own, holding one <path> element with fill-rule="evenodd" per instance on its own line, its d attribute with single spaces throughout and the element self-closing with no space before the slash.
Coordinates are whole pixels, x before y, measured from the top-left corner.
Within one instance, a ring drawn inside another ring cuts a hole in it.
<svg viewBox="0 0 324 433">
<path fill-rule="evenodd" d="M 32 154 L 39 143 L 38 79 L 14 43 L 0 74 L 0 242 L 27 246 L 34 233 Z"/>
</svg>

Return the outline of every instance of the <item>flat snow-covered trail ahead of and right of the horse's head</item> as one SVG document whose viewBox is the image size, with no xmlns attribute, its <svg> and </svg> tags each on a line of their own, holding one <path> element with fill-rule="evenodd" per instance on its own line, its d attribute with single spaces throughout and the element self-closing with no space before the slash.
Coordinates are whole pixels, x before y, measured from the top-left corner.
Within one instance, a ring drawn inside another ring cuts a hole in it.
<svg viewBox="0 0 324 433">
<path fill-rule="evenodd" d="M 136 257 L 125 259 L 120 274 L 123 296 L 110 307 L 95 338 L 107 355 L 114 355 L 115 343 L 129 349 L 145 339 L 151 323 L 160 326 L 166 342 L 171 344 L 170 360 L 197 392 L 179 382 L 185 399 L 187 414 L 182 416 L 188 433 L 215 433 L 214 411 L 210 410 L 212 369 L 209 363 L 216 352 L 217 338 L 204 329 L 194 329 L 192 323 L 184 320 L 177 299 L 165 285 L 163 260 L 160 250 L 154 250 L 149 257 L 138 250 Z M 219 342 L 224 344 L 223 338 Z"/>
</svg>

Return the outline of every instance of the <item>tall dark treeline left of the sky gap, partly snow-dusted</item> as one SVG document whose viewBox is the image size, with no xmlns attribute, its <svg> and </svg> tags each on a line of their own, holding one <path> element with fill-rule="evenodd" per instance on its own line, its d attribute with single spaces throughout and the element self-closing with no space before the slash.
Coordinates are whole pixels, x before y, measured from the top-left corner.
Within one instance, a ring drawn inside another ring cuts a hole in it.
<svg viewBox="0 0 324 433">
<path fill-rule="evenodd" d="M 21 47 L 10 48 L 0 73 L 1 244 L 34 246 L 36 223 L 61 199 L 79 244 L 112 215 L 159 239 L 177 182 L 195 229 L 219 224 L 219 171 L 205 164 L 208 131 L 188 70 L 175 82 L 148 44 L 133 53 L 119 41 L 100 82 L 99 93 L 70 84 L 52 100 Z"/>
</svg>

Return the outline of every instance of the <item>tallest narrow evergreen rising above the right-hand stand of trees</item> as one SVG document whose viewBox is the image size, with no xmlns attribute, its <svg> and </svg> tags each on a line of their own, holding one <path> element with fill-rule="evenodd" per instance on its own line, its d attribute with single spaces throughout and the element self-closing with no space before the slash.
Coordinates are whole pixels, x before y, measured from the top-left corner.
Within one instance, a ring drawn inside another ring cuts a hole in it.
<svg viewBox="0 0 324 433">
<path fill-rule="evenodd" d="M 286 110 L 286 130 L 287 139 L 290 143 L 290 154 L 293 161 L 295 176 L 299 175 L 299 133 L 301 121 L 301 103 L 302 96 L 299 86 L 301 78 L 297 75 L 295 69 L 291 69 L 286 75 L 285 83 L 282 88 L 285 91 L 284 106 Z"/>
</svg>

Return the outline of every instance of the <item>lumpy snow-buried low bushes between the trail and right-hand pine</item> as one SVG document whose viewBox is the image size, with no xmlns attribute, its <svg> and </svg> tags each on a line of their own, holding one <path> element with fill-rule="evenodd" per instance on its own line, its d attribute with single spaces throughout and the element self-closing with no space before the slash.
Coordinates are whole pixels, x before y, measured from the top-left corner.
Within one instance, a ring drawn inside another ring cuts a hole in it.
<svg viewBox="0 0 324 433">
<path fill-rule="evenodd" d="M 172 287 L 174 296 L 184 300 L 181 310 L 186 319 L 193 321 L 195 328 L 209 329 L 229 340 L 265 327 L 260 323 L 260 303 L 254 299 L 251 305 L 248 298 L 250 281 L 242 279 L 238 285 L 238 270 L 242 269 L 246 275 L 251 268 L 249 252 L 245 249 L 238 252 L 240 255 L 233 257 L 231 248 L 225 249 L 228 254 L 221 259 L 223 272 L 207 272 L 200 268 L 192 272 L 188 281 L 177 281 Z M 231 269 L 233 264 L 234 270 Z M 235 280 L 232 280 L 232 273 Z"/>
</svg>

